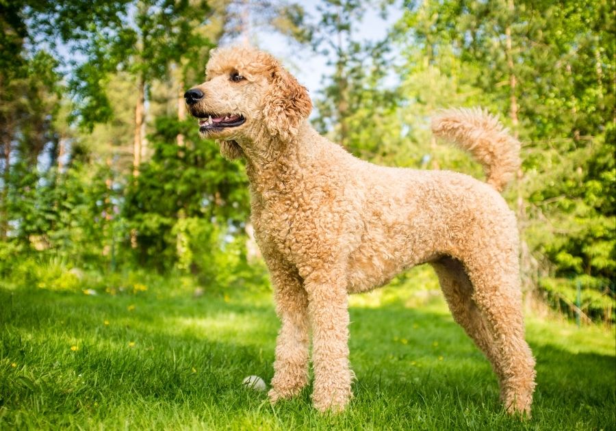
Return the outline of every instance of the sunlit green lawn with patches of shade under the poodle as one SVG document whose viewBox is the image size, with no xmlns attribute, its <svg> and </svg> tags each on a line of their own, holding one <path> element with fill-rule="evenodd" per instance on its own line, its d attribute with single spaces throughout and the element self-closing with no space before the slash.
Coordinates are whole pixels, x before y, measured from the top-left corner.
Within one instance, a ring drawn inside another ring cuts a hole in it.
<svg viewBox="0 0 616 431">
<path fill-rule="evenodd" d="M 538 387 L 532 419 L 519 421 L 440 296 L 407 293 L 352 301 L 355 398 L 329 416 L 311 408 L 310 388 L 272 407 L 242 387 L 272 378 L 279 323 L 264 289 L 194 299 L 164 285 L 115 296 L 0 288 L 0 429 L 616 428 L 613 330 L 530 317 Z"/>
</svg>

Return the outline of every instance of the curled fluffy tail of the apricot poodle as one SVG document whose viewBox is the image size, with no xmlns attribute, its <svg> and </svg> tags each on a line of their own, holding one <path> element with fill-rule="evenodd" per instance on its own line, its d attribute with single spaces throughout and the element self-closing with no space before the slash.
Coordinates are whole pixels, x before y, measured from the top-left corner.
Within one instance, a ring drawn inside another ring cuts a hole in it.
<svg viewBox="0 0 616 431">
<path fill-rule="evenodd" d="M 515 177 L 521 163 L 519 141 L 487 111 L 448 109 L 432 119 L 432 132 L 469 151 L 483 165 L 487 183 L 499 192 Z"/>
</svg>

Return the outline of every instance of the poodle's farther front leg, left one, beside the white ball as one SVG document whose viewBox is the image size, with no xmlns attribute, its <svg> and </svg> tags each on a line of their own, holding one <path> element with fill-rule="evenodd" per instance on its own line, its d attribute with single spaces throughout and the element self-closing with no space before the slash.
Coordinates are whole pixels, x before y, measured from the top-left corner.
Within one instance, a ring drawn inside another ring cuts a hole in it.
<svg viewBox="0 0 616 431">
<path fill-rule="evenodd" d="M 276 341 L 271 402 L 300 393 L 308 384 L 308 299 L 297 270 L 280 262 L 270 264 L 276 311 L 282 327 Z"/>
</svg>

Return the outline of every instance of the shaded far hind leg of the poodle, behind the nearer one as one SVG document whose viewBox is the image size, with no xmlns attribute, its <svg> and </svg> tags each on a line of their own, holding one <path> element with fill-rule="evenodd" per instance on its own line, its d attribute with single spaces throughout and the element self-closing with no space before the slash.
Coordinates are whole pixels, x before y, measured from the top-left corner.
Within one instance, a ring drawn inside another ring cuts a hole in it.
<svg viewBox="0 0 616 431">
<path fill-rule="evenodd" d="M 450 257 L 439 259 L 433 262 L 432 266 L 439 277 L 441 289 L 454 320 L 485 354 L 500 381 L 502 369 L 500 362 L 496 361 L 498 349 L 487 320 L 472 299 L 473 287 L 464 271 L 464 266 L 457 259 Z"/>
</svg>

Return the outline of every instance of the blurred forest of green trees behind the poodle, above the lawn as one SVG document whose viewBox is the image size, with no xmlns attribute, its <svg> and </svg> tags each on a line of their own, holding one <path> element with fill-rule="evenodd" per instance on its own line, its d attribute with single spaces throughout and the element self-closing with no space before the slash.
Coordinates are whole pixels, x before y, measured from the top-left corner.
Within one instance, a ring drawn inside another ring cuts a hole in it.
<svg viewBox="0 0 616 431">
<path fill-rule="evenodd" d="M 384 36 L 366 40 L 375 14 Z M 499 114 L 522 141 L 505 196 L 525 298 L 615 320 L 613 1 L 0 0 L 0 27 L 5 285 L 114 294 L 152 273 L 266 285 L 242 161 L 198 137 L 182 95 L 211 49 L 276 34 L 326 59 L 311 121 L 363 159 L 480 178 L 429 118 Z"/>
</svg>

